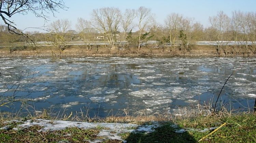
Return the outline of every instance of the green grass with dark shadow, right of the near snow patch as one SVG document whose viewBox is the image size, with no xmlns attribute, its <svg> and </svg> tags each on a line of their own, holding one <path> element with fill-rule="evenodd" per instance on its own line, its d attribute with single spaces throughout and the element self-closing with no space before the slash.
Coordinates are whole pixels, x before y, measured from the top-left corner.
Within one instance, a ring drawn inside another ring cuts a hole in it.
<svg viewBox="0 0 256 143">
<path fill-rule="evenodd" d="M 177 125 L 175 129 L 172 125 Z M 198 116 L 193 119 L 181 119 L 174 123 L 165 122 L 152 133 L 126 133 L 122 137 L 128 142 L 197 142 L 208 135 L 211 130 L 200 132 L 196 129 L 225 126 L 218 129 L 202 142 L 256 142 L 256 115 L 249 113 L 233 114 L 229 116 Z M 176 133 L 179 128 L 190 129 L 183 133 Z"/>
</svg>

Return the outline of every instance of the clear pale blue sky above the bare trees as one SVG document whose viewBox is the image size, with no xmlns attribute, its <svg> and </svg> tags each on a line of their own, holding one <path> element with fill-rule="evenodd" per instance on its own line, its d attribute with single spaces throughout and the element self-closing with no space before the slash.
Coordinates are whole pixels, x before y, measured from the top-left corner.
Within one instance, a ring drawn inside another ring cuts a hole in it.
<svg viewBox="0 0 256 143">
<path fill-rule="evenodd" d="M 163 24 L 165 17 L 170 13 L 183 14 L 186 17 L 194 17 L 204 27 L 209 26 L 209 16 L 216 15 L 217 11 L 224 11 L 231 16 L 232 11 L 256 12 L 256 0 L 64 0 L 69 9 L 60 10 L 56 17 L 50 16 L 50 21 L 67 18 L 72 21 L 72 29 L 75 29 L 78 17 L 90 19 L 93 9 L 101 7 L 118 7 L 121 11 L 125 9 L 137 9 L 145 6 L 155 14 L 156 21 Z M 43 26 L 44 20 L 34 17 L 32 14 L 16 15 L 12 17 L 19 29 L 27 27 Z M 1 21 L 1 24 L 3 22 Z M 27 29 L 34 31 L 36 29 Z M 37 30 L 40 31 L 40 30 Z"/>
</svg>

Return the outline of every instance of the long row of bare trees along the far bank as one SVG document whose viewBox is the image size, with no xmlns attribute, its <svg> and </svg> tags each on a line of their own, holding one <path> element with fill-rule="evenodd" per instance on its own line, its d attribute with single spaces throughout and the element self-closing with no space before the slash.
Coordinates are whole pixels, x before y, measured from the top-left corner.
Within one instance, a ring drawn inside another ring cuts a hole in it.
<svg viewBox="0 0 256 143">
<path fill-rule="evenodd" d="M 229 17 L 223 11 L 209 17 L 210 27 L 204 28 L 194 18 L 171 13 L 165 18 L 164 24 L 155 21 L 151 9 L 139 7 L 137 10 L 127 9 L 124 12 L 118 8 L 105 7 L 93 10 L 91 19 L 78 18 L 76 30 L 71 30 L 71 21 L 61 19 L 52 22 L 49 32 L 30 32 L 34 41 L 50 41 L 64 50 L 70 41 L 83 41 L 90 44 L 97 41 L 107 41 L 111 48 L 118 49 L 120 41 L 127 41 L 129 47 L 141 48 L 145 41 L 158 41 L 158 46 L 168 46 L 170 51 L 179 46 L 189 50 L 197 41 L 216 41 L 218 53 L 224 51 L 228 42 L 233 41 L 232 53 L 239 48 L 256 52 L 256 13 L 234 11 Z M 2 43 L 23 41 L 24 37 L 10 34 L 4 26 L 0 29 Z M 245 42 L 244 42 L 245 41 Z M 250 42 L 250 44 L 248 43 Z"/>
</svg>

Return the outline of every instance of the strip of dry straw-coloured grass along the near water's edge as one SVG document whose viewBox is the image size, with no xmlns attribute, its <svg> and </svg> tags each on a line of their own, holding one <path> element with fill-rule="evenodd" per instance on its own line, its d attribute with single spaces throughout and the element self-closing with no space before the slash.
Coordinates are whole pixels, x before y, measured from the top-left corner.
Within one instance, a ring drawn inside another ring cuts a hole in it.
<svg viewBox="0 0 256 143">
<path fill-rule="evenodd" d="M 237 111 L 236 111 L 237 112 Z M 153 121 L 162 122 L 175 122 L 179 120 L 190 120 L 198 116 L 218 116 L 226 117 L 233 115 L 233 111 L 229 111 L 226 108 L 222 108 L 221 111 L 214 113 L 211 105 L 198 106 L 192 109 L 177 108 L 172 113 L 163 111 L 162 113 L 148 113 L 147 110 L 134 111 L 133 109 L 119 110 L 116 114 L 108 115 L 106 117 L 99 117 L 97 115 L 90 117 L 89 109 L 81 109 L 76 112 L 59 111 L 53 113 L 50 110 L 37 111 L 32 105 L 26 105 L 17 113 L 0 112 L 0 121 L 14 120 L 14 119 L 35 119 L 43 118 L 48 120 L 68 120 L 79 122 L 104 122 L 104 123 L 136 123 L 144 124 L 151 123 Z M 205 118 L 207 119 L 207 118 Z"/>
</svg>

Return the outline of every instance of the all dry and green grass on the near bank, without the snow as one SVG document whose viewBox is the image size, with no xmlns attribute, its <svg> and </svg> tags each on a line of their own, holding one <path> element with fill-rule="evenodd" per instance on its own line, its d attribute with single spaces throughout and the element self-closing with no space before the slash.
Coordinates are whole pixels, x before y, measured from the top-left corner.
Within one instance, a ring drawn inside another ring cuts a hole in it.
<svg viewBox="0 0 256 143">
<path fill-rule="evenodd" d="M 181 108 L 181 110 L 187 114 L 183 116 L 176 116 L 175 114 L 180 114 L 180 112 L 163 112 L 161 114 L 148 114 L 145 112 L 133 112 L 127 107 L 127 109 L 120 110 L 116 115 L 107 116 L 101 118 L 98 116 L 89 117 L 88 110 L 77 111 L 75 113 L 65 113 L 59 112 L 57 116 L 51 116 L 49 111 L 33 111 L 27 109 L 27 116 L 21 117 L 22 114 L 16 113 L 1 113 L 0 114 L 0 127 L 9 125 L 11 128 L 17 126 L 16 122 L 6 123 L 6 120 L 28 120 L 35 118 L 44 118 L 48 120 L 69 120 L 69 121 L 81 121 L 81 122 L 104 122 L 104 123 L 136 123 L 138 125 L 142 124 L 152 124 L 157 121 L 161 126 L 155 128 L 155 132 L 145 134 L 145 133 L 123 133 L 120 136 L 128 142 L 148 142 L 150 141 L 160 141 L 160 142 L 196 142 L 202 137 L 206 136 L 211 132 L 199 132 L 197 130 L 190 130 L 184 133 L 177 133 L 177 129 L 204 129 L 211 127 L 218 127 L 223 123 L 227 125 L 222 127 L 216 133 L 205 138 L 203 142 L 230 142 L 232 140 L 243 141 L 247 140 L 249 142 L 256 141 L 256 116 L 251 112 L 243 113 L 233 113 L 227 109 L 222 109 L 218 112 L 211 112 L 213 108 L 211 106 L 199 106 L 195 109 Z M 130 114 L 131 113 L 131 114 Z M 173 125 L 177 127 L 174 127 Z M 99 129 L 83 130 L 79 128 L 67 128 L 60 131 L 48 131 L 48 132 L 38 132 L 39 126 L 30 127 L 25 130 L 0 130 L 0 140 L 5 142 L 10 142 L 12 140 L 24 141 L 24 142 L 40 142 L 40 141 L 88 141 L 101 139 L 97 137 Z M 32 133 L 32 134 L 31 134 Z M 71 135 L 70 135 L 71 134 Z M 237 136 L 239 135 L 239 136 Z M 38 140 L 37 136 L 40 136 Z M 104 142 L 120 142 L 118 140 L 105 140 Z"/>
</svg>

